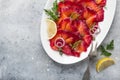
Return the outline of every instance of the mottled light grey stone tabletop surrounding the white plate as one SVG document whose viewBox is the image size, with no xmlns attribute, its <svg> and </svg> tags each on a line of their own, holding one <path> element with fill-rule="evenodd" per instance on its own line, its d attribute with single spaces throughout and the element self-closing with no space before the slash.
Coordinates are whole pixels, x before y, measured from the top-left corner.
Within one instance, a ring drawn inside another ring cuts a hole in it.
<svg viewBox="0 0 120 80">
<path fill-rule="evenodd" d="M 45 53 L 40 42 L 40 20 L 47 0 L 0 0 L 0 80 L 81 80 L 87 60 L 60 65 Z M 120 0 L 111 29 L 102 44 L 115 40 L 114 66 L 91 80 L 120 80 Z"/>
</svg>

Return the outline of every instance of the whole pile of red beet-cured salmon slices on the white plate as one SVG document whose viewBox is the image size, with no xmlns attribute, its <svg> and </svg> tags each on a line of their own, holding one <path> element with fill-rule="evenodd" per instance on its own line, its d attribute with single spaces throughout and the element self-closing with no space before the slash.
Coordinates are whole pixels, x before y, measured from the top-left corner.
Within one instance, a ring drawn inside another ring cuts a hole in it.
<svg viewBox="0 0 120 80">
<path fill-rule="evenodd" d="M 57 34 L 49 40 L 55 51 L 80 57 L 93 40 L 99 22 L 104 19 L 106 0 L 64 0 L 58 3 Z M 94 29 L 95 30 L 95 29 Z"/>
</svg>

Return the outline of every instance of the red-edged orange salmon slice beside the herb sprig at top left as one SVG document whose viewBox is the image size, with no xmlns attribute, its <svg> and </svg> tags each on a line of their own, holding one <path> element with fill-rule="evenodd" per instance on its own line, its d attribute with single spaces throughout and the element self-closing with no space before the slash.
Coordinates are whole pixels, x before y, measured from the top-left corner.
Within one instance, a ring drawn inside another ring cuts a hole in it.
<svg viewBox="0 0 120 80">
<path fill-rule="evenodd" d="M 58 6 L 58 12 L 60 13 L 60 17 L 71 17 L 72 15 L 75 16 L 80 15 L 83 11 L 83 6 L 78 5 L 77 3 L 73 3 L 71 1 L 64 1 L 60 2 Z"/>
</svg>

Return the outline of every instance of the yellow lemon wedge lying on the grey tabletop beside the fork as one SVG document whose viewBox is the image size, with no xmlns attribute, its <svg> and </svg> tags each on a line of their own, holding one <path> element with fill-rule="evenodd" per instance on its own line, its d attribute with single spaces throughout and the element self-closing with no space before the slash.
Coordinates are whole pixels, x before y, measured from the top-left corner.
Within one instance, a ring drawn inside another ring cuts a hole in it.
<svg viewBox="0 0 120 80">
<path fill-rule="evenodd" d="M 115 62 L 112 58 L 109 57 L 104 57 L 100 60 L 98 60 L 97 64 L 96 64 L 96 71 L 100 72 L 104 69 L 106 69 L 107 67 L 113 65 Z"/>
</svg>

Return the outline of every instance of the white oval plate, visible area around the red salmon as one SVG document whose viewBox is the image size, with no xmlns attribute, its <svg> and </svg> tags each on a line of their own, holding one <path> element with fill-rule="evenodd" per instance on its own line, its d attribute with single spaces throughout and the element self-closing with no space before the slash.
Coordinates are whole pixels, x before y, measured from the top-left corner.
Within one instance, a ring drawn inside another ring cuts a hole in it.
<svg viewBox="0 0 120 80">
<path fill-rule="evenodd" d="M 54 1 L 55 0 L 48 0 L 45 9 L 50 9 Z M 98 44 L 97 46 L 101 44 L 101 42 L 104 40 L 105 36 L 107 35 L 110 29 L 110 26 L 114 18 L 115 8 L 116 8 L 116 0 L 107 0 L 106 9 L 104 13 L 105 14 L 104 21 L 99 23 L 101 32 L 95 38 L 95 42 L 97 42 Z M 41 20 L 41 28 L 40 28 L 40 37 L 43 48 L 45 49 L 48 56 L 52 58 L 54 61 L 61 64 L 73 64 L 85 59 L 89 54 L 90 47 L 88 48 L 87 52 L 83 52 L 79 58 L 73 56 L 66 56 L 66 55 L 61 56 L 59 52 L 51 49 L 47 37 L 47 25 L 46 25 L 47 18 L 48 16 L 45 14 L 45 12 L 43 12 L 42 20 Z"/>
</svg>

